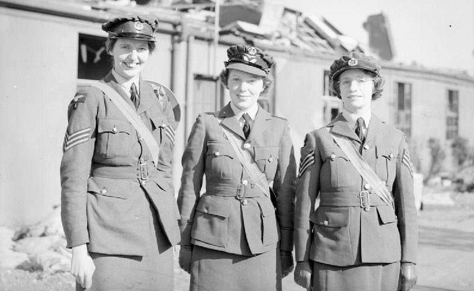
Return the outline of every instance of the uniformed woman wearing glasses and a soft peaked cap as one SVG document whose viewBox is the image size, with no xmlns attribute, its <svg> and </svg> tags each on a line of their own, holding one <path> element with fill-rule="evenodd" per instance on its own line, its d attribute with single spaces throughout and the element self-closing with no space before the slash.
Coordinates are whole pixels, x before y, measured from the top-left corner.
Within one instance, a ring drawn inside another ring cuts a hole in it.
<svg viewBox="0 0 474 291">
<path fill-rule="evenodd" d="M 344 108 L 301 149 L 295 282 L 313 291 L 408 291 L 416 283 L 413 169 L 404 134 L 372 113 L 380 67 L 342 56 L 330 81 Z"/>
</svg>

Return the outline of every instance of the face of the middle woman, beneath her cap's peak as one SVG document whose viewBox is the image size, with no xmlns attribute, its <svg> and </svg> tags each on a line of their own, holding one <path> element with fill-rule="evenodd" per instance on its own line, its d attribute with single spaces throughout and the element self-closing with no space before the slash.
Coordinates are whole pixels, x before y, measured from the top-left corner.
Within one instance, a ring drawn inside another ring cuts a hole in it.
<svg viewBox="0 0 474 291">
<path fill-rule="evenodd" d="M 227 86 L 232 103 L 243 111 L 257 103 L 264 89 L 263 77 L 237 69 L 229 69 Z"/>
</svg>

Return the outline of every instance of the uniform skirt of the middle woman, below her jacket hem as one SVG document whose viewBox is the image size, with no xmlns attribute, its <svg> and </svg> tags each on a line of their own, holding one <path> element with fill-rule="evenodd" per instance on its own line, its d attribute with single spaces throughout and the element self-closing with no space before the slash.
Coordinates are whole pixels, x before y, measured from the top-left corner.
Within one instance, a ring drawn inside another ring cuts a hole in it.
<svg viewBox="0 0 474 291">
<path fill-rule="evenodd" d="M 255 256 L 194 246 L 190 291 L 281 291 L 280 253 Z"/>
</svg>

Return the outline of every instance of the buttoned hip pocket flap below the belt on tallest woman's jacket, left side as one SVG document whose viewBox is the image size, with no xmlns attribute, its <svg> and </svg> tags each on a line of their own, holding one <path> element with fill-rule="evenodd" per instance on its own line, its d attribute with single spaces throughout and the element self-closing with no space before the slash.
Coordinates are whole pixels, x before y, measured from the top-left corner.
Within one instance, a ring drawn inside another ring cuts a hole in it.
<svg viewBox="0 0 474 291">
<path fill-rule="evenodd" d="M 128 198 L 131 182 L 102 177 L 90 177 L 87 180 L 87 192 L 93 192 L 103 196 Z"/>
</svg>

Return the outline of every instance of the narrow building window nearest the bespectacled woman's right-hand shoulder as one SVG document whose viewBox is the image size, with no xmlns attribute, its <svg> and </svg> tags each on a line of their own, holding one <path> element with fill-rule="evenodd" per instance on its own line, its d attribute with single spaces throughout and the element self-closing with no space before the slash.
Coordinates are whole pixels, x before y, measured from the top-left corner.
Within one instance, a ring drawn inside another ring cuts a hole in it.
<svg viewBox="0 0 474 291">
<path fill-rule="evenodd" d="M 407 137 L 411 136 L 411 84 L 397 82 L 397 116 L 396 127 Z"/>
</svg>

